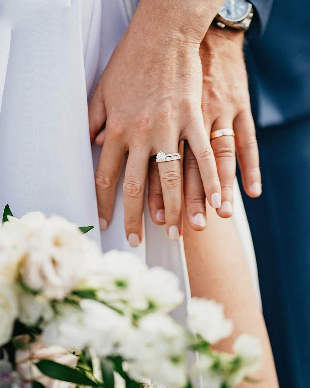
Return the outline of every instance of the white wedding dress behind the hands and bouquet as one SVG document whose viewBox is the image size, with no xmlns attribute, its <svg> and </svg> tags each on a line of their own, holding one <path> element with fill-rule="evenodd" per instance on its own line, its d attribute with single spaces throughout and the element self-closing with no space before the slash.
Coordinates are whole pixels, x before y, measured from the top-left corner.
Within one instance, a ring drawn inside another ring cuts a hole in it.
<svg viewBox="0 0 310 388">
<path fill-rule="evenodd" d="M 0 209 L 33 210 L 94 225 L 104 251 L 133 251 L 179 277 L 189 297 L 182 241 L 170 241 L 145 206 L 144 239 L 130 248 L 124 232 L 122 179 L 113 221 L 99 231 L 87 102 L 133 12 L 134 0 L 0 0 Z M 126 69 L 124 69 L 126 71 Z M 251 237 L 236 191 L 235 220 L 257 288 Z M 257 288 L 258 290 L 258 288 Z M 177 312 L 183 320 L 186 301 Z"/>
</svg>

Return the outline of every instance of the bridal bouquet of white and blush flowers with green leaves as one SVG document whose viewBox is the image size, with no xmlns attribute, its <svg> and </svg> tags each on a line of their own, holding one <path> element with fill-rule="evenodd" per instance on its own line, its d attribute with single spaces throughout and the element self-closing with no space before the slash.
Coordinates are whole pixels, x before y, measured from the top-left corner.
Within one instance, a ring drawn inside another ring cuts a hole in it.
<svg viewBox="0 0 310 388">
<path fill-rule="evenodd" d="M 102 255 L 85 233 L 9 206 L 0 229 L 0 387 L 229 388 L 260 367 L 256 338 L 234 353 L 212 345 L 232 333 L 214 300 L 193 298 L 187 326 L 168 313 L 183 300 L 177 277 L 131 253 Z M 186 367 L 188 353 L 196 360 Z"/>
</svg>

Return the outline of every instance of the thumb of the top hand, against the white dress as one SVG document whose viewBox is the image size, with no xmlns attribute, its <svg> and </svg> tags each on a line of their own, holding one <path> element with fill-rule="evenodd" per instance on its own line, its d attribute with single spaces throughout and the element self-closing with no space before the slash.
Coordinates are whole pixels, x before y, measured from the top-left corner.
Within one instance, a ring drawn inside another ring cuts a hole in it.
<svg viewBox="0 0 310 388">
<path fill-rule="evenodd" d="M 107 113 L 101 90 L 96 87 L 88 104 L 88 122 L 90 127 L 90 141 L 93 142 L 96 134 L 102 129 L 107 120 Z"/>
</svg>

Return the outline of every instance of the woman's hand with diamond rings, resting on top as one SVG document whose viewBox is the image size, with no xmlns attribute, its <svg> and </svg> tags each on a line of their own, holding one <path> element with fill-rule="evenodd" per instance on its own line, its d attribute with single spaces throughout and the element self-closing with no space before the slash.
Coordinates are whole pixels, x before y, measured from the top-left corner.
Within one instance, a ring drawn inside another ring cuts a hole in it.
<svg viewBox="0 0 310 388">
<path fill-rule="evenodd" d="M 204 8 L 198 7 L 202 4 Z M 198 161 L 209 203 L 220 206 L 220 183 L 201 109 L 199 56 L 200 42 L 219 4 L 209 6 L 212 13 L 206 12 L 206 0 L 192 0 L 191 6 L 187 0 L 158 0 L 156 5 L 142 0 L 90 101 L 91 140 L 106 122 L 96 140 L 103 143 L 95 178 L 100 225 L 105 229 L 112 218 L 115 185 L 129 151 L 123 191 L 131 246 L 142 239 L 149 159 L 159 151 L 177 152 L 181 139 L 188 140 Z M 156 167 L 152 217 L 159 223 L 165 220 L 169 237 L 178 239 L 182 233 L 180 162 Z"/>
</svg>

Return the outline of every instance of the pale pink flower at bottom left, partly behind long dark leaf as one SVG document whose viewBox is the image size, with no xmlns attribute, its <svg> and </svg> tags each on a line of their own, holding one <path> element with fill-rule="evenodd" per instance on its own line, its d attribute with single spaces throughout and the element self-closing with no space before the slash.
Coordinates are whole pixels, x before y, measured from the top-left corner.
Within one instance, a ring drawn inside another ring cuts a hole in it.
<svg viewBox="0 0 310 388">
<path fill-rule="evenodd" d="M 61 346 L 45 347 L 40 339 L 30 344 L 26 350 L 17 350 L 15 352 L 15 361 L 17 364 L 17 371 L 22 380 L 26 383 L 31 381 L 38 381 L 49 388 L 74 388 L 76 384 L 67 383 L 51 379 L 43 375 L 36 367 L 35 363 L 40 360 L 52 360 L 62 365 L 67 365 L 75 368 L 78 357 L 69 353 Z"/>
</svg>

